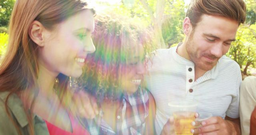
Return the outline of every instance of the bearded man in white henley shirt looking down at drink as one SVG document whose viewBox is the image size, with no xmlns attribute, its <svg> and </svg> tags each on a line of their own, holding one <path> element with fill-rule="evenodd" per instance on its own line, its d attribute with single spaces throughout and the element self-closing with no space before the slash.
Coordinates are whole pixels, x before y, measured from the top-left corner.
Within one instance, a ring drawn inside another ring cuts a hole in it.
<svg viewBox="0 0 256 135">
<path fill-rule="evenodd" d="M 156 50 L 145 75 L 156 101 L 158 135 L 165 134 L 162 129 L 172 114 L 168 103 L 185 99 L 198 102 L 197 112 L 213 115 L 191 133 L 240 134 L 240 67 L 224 55 L 245 18 L 243 0 L 191 1 L 183 22 L 185 41 Z"/>
</svg>

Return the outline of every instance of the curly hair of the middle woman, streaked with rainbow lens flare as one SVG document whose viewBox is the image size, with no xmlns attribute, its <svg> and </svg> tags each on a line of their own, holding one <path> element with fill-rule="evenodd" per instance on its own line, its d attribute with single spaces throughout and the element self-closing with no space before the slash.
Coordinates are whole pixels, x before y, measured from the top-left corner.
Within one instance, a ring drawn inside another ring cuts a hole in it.
<svg viewBox="0 0 256 135">
<path fill-rule="evenodd" d="M 149 30 L 136 26 L 131 20 L 115 14 L 95 16 L 92 36 L 96 51 L 86 58 L 84 73 L 77 79 L 79 89 L 97 98 L 116 101 L 122 97 L 121 69 L 127 65 L 132 47 L 142 45 L 145 56 L 155 49 Z M 145 62 L 150 57 L 145 58 Z"/>
</svg>

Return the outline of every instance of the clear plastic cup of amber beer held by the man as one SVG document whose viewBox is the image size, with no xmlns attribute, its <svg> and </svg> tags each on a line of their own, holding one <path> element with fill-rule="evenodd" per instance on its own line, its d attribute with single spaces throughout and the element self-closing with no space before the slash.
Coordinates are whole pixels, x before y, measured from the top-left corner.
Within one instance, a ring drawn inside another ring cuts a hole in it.
<svg viewBox="0 0 256 135">
<path fill-rule="evenodd" d="M 174 130 L 176 135 L 193 135 L 192 122 L 195 121 L 197 102 L 175 101 L 168 103 L 174 117 Z"/>
</svg>

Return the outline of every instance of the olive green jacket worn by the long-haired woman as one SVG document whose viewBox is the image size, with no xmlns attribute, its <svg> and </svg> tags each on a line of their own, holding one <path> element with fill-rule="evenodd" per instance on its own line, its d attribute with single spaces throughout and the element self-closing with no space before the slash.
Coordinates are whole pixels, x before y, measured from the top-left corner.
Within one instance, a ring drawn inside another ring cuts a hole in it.
<svg viewBox="0 0 256 135">
<path fill-rule="evenodd" d="M 8 93 L 9 92 L 0 92 L 0 135 L 19 135 L 4 107 L 4 101 Z M 7 104 L 9 111 L 11 112 L 11 116 L 17 123 L 18 128 L 20 128 L 22 135 L 28 135 L 28 121 L 22 101 L 18 95 L 11 95 Z M 34 115 L 34 131 L 35 135 L 49 135 L 46 123 L 37 115 Z"/>
</svg>

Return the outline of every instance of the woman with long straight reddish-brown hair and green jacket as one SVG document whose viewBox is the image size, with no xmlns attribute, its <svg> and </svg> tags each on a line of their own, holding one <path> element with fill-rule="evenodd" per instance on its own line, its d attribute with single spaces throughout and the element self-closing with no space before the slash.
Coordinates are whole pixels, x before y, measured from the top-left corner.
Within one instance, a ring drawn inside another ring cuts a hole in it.
<svg viewBox="0 0 256 135">
<path fill-rule="evenodd" d="M 93 30 L 94 11 L 82 0 L 16 0 L 0 65 L 1 135 L 88 134 L 68 89 L 95 51 Z"/>
</svg>

